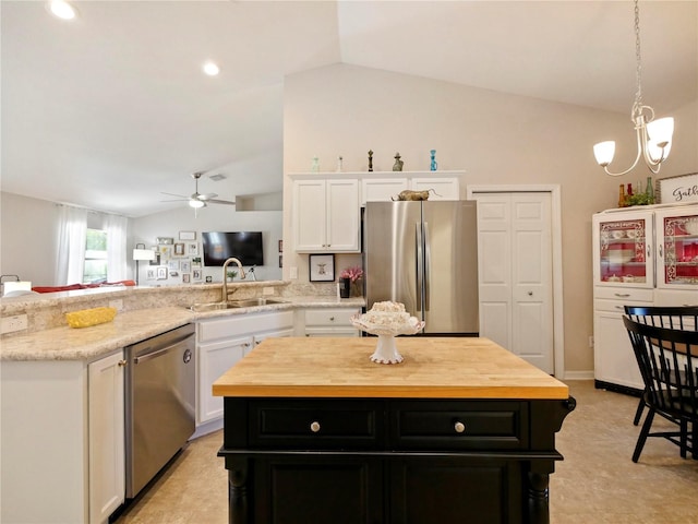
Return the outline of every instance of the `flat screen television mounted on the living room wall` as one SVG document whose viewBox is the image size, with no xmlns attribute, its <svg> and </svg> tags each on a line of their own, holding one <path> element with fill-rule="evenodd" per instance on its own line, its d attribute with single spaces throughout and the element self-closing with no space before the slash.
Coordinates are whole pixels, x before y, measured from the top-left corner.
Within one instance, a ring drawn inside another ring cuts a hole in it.
<svg viewBox="0 0 698 524">
<path fill-rule="evenodd" d="M 262 231 L 204 231 L 204 265 L 222 265 L 230 257 L 242 265 L 264 265 Z"/>
</svg>

